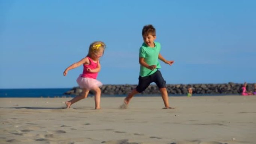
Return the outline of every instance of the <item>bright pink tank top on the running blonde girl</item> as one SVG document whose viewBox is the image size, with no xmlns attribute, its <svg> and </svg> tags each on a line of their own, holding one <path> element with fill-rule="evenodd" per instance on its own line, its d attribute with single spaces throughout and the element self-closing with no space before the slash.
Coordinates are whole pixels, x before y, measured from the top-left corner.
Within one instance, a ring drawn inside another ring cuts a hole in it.
<svg viewBox="0 0 256 144">
<path fill-rule="evenodd" d="M 88 56 L 87 56 L 87 58 L 89 59 L 90 64 L 88 64 L 88 65 L 83 64 L 83 74 L 81 77 L 88 77 L 88 78 L 96 79 L 98 76 L 98 73 L 91 73 L 91 72 L 87 71 L 87 68 L 91 68 L 93 70 L 93 69 L 97 68 L 98 64 L 97 64 L 97 62 L 94 62 L 91 58 L 89 58 Z"/>
</svg>

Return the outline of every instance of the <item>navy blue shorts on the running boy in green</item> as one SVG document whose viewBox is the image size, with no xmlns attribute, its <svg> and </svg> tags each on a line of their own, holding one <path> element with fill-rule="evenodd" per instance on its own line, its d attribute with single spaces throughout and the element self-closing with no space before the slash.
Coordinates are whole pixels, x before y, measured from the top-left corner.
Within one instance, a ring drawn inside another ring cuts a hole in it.
<svg viewBox="0 0 256 144">
<path fill-rule="evenodd" d="M 151 74 L 150 76 L 139 77 L 139 83 L 138 83 L 138 86 L 136 87 L 137 92 L 140 92 L 140 93 L 143 92 L 152 82 L 155 82 L 159 89 L 166 87 L 165 86 L 166 82 L 162 77 L 161 72 L 157 70 L 155 73 Z"/>
</svg>

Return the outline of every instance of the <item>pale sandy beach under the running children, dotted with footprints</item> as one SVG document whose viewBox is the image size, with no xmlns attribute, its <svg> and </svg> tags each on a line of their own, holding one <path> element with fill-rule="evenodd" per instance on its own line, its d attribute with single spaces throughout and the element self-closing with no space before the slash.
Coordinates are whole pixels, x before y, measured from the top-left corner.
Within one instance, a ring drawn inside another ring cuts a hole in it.
<svg viewBox="0 0 256 144">
<path fill-rule="evenodd" d="M 1 144 L 256 144 L 256 96 L 1 98 Z"/>
</svg>

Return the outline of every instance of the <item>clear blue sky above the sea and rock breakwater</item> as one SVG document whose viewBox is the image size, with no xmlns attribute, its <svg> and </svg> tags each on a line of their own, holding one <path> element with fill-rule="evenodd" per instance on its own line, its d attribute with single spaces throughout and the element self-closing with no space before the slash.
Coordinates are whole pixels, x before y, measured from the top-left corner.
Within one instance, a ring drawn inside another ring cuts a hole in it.
<svg viewBox="0 0 256 144">
<path fill-rule="evenodd" d="M 0 88 L 72 88 L 91 42 L 98 80 L 137 84 L 144 25 L 156 28 L 169 84 L 255 83 L 255 0 L 0 0 Z"/>
</svg>

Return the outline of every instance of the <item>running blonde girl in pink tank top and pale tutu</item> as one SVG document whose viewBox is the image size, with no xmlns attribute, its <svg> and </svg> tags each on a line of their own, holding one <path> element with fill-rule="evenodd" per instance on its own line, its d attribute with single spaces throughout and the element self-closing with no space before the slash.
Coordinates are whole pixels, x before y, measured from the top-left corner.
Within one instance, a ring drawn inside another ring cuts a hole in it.
<svg viewBox="0 0 256 144">
<path fill-rule="evenodd" d="M 101 90 L 99 87 L 102 86 L 102 83 L 96 80 L 96 78 L 101 68 L 99 60 L 103 55 L 105 48 L 106 45 L 103 42 L 98 41 L 91 43 L 88 55 L 79 62 L 76 62 L 65 69 L 63 73 L 64 76 L 67 75 L 69 70 L 77 68 L 83 64 L 83 73 L 80 74 L 76 79 L 76 82 L 78 83 L 79 87 L 83 89 L 83 91 L 80 95 L 74 97 L 70 101 L 65 102 L 67 108 L 70 108 L 70 106 L 75 102 L 87 98 L 89 91 L 92 90 L 95 92 L 95 109 L 100 109 Z"/>
</svg>

